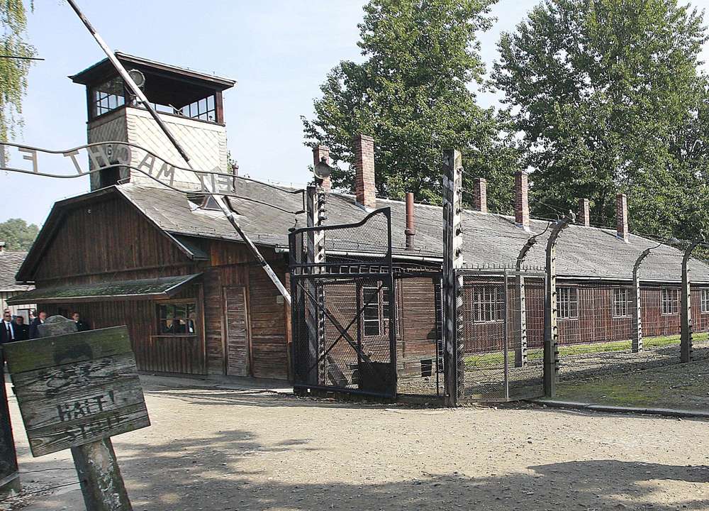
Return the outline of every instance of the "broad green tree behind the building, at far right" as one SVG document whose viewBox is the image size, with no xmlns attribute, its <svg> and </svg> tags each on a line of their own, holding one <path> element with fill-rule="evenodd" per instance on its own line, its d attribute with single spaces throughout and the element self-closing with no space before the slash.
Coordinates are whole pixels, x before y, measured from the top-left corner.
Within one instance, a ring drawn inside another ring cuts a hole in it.
<svg viewBox="0 0 709 511">
<path fill-rule="evenodd" d="M 536 214 L 588 197 L 608 224 L 621 191 L 634 229 L 676 230 L 705 40 L 701 13 L 675 0 L 544 0 L 502 35 L 492 82 L 523 136 Z"/>
</svg>

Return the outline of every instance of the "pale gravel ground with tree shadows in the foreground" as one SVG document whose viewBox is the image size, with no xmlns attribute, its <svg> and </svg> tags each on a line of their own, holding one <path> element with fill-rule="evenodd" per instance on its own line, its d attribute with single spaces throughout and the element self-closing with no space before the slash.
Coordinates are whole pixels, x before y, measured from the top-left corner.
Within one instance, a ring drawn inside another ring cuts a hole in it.
<svg viewBox="0 0 709 511">
<path fill-rule="evenodd" d="M 359 405 L 174 382 L 146 385 L 146 397 L 152 427 L 113 440 L 135 511 L 709 509 L 698 420 Z M 68 451 L 30 458 L 11 406 L 28 489 L 74 482 Z M 82 510 L 76 488 L 9 502 Z"/>
</svg>

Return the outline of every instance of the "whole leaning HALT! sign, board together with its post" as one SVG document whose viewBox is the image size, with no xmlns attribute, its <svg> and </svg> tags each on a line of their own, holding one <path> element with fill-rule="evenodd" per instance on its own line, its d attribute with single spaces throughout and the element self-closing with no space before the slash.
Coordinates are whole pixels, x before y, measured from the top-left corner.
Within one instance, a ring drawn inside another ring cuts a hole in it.
<svg viewBox="0 0 709 511">
<path fill-rule="evenodd" d="M 74 332 L 51 317 L 40 334 L 5 345 L 30 451 L 72 449 L 89 511 L 130 511 L 111 436 L 150 426 L 128 329 Z"/>
</svg>

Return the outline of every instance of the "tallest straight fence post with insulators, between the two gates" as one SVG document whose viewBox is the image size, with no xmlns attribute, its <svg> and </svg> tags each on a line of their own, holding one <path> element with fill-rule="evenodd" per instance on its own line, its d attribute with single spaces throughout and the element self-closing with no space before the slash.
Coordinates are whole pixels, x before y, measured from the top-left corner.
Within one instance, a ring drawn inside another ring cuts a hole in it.
<svg viewBox="0 0 709 511">
<path fill-rule="evenodd" d="M 465 383 L 463 336 L 462 158 L 443 151 L 443 282 L 445 322 L 445 388 L 447 406 L 457 406 Z"/>
</svg>

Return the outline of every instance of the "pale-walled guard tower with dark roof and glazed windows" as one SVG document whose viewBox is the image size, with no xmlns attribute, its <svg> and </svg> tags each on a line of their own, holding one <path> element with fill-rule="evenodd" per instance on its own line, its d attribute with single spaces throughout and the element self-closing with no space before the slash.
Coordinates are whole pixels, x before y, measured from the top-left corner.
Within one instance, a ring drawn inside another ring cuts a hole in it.
<svg viewBox="0 0 709 511">
<path fill-rule="evenodd" d="M 116 52 L 116 57 L 186 150 L 191 165 L 196 170 L 231 172 L 222 92 L 236 82 L 125 53 Z M 130 142 L 149 148 L 169 163 L 187 167 L 150 112 L 135 101 L 108 59 L 69 78 L 86 86 L 89 143 Z M 145 153 L 133 151 L 130 165 L 138 167 L 143 158 Z M 142 172 L 116 166 L 91 174 L 91 190 L 129 181 L 155 183 Z M 174 173 L 174 184 L 199 187 L 191 172 L 180 170 Z"/>
</svg>

